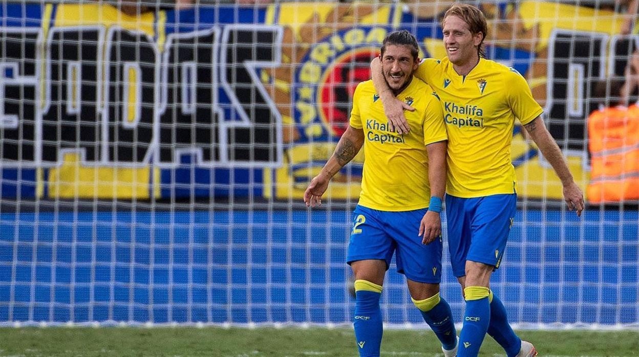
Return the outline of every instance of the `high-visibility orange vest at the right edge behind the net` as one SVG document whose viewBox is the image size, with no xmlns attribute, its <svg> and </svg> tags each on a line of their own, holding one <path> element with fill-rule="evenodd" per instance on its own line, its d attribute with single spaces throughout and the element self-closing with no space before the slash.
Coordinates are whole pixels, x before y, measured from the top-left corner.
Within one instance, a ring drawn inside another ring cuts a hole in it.
<svg viewBox="0 0 639 357">
<path fill-rule="evenodd" d="M 639 103 L 592 112 L 588 118 L 593 203 L 639 200 Z"/>
</svg>

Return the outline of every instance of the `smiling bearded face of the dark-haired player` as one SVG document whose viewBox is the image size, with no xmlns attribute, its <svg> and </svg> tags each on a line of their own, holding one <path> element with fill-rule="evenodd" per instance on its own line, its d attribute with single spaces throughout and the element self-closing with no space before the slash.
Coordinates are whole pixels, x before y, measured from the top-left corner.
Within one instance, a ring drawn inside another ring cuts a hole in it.
<svg viewBox="0 0 639 357">
<path fill-rule="evenodd" d="M 381 55 L 384 78 L 396 95 L 408 86 L 417 66 L 419 58 L 413 57 L 409 45 L 387 45 Z"/>
</svg>

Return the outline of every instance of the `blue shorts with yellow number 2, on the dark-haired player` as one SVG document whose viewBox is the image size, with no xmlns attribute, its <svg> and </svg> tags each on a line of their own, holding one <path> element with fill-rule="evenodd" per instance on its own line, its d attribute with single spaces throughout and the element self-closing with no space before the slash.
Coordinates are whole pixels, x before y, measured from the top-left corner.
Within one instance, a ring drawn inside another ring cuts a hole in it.
<svg viewBox="0 0 639 357">
<path fill-rule="evenodd" d="M 357 205 L 346 262 L 380 259 L 390 266 L 395 252 L 397 272 L 415 282 L 442 280 L 442 239 L 422 244 L 419 225 L 427 209 L 389 212 Z"/>
</svg>

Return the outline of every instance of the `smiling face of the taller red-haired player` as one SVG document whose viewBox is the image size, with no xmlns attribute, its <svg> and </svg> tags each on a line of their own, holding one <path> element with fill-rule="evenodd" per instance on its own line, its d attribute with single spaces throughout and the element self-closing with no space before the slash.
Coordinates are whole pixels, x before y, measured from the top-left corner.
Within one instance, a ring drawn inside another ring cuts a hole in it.
<svg viewBox="0 0 639 357">
<path fill-rule="evenodd" d="M 481 32 L 473 34 L 468 24 L 455 15 L 443 20 L 443 44 L 450 62 L 455 66 L 475 66 L 479 61 L 477 48 L 483 37 Z"/>
</svg>

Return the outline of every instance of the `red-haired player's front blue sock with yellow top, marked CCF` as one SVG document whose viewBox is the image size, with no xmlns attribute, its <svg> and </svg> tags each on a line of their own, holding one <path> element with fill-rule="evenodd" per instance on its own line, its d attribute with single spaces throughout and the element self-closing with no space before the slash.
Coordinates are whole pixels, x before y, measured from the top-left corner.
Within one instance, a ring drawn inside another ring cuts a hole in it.
<svg viewBox="0 0 639 357">
<path fill-rule="evenodd" d="M 464 289 L 466 296 L 466 314 L 459 334 L 458 357 L 477 356 L 479 347 L 484 342 L 490 323 L 490 290 L 483 286 L 468 286 Z"/>
</svg>

